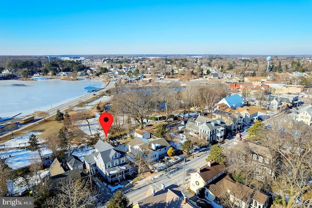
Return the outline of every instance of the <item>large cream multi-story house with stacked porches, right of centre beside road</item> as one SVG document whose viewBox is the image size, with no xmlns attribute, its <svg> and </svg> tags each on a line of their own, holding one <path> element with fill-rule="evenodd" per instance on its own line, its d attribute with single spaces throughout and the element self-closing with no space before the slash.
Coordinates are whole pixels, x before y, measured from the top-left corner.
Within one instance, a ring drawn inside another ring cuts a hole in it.
<svg viewBox="0 0 312 208">
<path fill-rule="evenodd" d="M 205 139 L 210 144 L 213 141 L 223 140 L 226 123 L 222 118 L 210 119 L 198 116 L 196 120 L 189 119 L 185 127 L 190 135 Z"/>
</svg>

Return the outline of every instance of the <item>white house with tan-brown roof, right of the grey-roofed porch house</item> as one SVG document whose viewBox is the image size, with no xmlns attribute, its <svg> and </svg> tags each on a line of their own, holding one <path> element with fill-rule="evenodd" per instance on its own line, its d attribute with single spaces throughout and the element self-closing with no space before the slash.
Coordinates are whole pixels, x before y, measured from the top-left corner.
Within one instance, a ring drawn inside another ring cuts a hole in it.
<svg viewBox="0 0 312 208">
<path fill-rule="evenodd" d="M 145 160 L 152 162 L 166 156 L 170 145 L 164 138 L 144 139 L 136 137 L 129 142 L 128 147 L 129 152 L 133 154 L 145 152 Z"/>
</svg>

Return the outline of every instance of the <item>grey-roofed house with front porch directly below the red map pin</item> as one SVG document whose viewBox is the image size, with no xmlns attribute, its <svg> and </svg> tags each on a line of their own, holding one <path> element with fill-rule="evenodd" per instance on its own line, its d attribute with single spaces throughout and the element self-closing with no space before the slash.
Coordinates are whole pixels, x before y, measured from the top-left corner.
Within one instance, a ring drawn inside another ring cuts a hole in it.
<svg viewBox="0 0 312 208">
<path fill-rule="evenodd" d="M 128 164 L 124 146 L 111 146 L 107 142 L 98 140 L 96 151 L 84 156 L 86 168 L 92 174 L 100 173 L 109 183 L 124 180 L 131 174 L 132 167 Z"/>
</svg>

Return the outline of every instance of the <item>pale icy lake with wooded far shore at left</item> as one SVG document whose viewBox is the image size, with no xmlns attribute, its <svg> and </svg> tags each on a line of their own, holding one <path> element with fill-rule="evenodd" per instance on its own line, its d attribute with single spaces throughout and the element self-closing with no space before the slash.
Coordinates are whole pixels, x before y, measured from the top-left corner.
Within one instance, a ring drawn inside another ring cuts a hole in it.
<svg viewBox="0 0 312 208">
<path fill-rule="evenodd" d="M 104 86 L 104 82 L 96 80 L 0 80 L 0 117 L 49 110 L 86 95 L 93 87 Z"/>
</svg>

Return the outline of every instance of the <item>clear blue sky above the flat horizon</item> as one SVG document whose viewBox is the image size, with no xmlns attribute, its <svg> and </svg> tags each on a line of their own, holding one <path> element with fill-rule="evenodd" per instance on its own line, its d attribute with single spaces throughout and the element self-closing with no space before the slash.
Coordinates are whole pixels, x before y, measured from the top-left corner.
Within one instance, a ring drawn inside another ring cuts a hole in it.
<svg viewBox="0 0 312 208">
<path fill-rule="evenodd" d="M 4 0 L 0 55 L 312 54 L 312 0 Z"/>
</svg>

